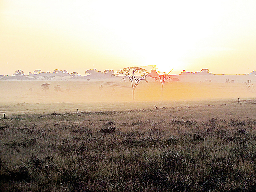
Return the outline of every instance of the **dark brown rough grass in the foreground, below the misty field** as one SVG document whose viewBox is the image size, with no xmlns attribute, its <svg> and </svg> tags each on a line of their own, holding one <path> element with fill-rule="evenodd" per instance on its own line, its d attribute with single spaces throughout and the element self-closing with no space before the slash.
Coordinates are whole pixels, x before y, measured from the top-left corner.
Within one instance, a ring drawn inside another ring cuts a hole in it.
<svg viewBox="0 0 256 192">
<path fill-rule="evenodd" d="M 254 103 L 9 114 L 0 190 L 255 191 Z"/>
</svg>

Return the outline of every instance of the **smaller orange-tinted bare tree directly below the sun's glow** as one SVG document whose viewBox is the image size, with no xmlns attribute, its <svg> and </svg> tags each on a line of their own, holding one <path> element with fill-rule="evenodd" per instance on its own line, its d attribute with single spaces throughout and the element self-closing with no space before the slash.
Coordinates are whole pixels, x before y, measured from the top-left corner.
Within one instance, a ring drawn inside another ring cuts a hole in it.
<svg viewBox="0 0 256 192">
<path fill-rule="evenodd" d="M 156 72 L 156 66 L 153 66 L 153 69 L 151 71 L 151 73 L 148 74 L 148 77 L 152 77 L 154 78 L 156 81 L 160 81 L 161 85 L 162 85 L 162 90 L 161 90 L 161 95 L 163 96 L 163 87 L 164 87 L 164 84 L 166 83 L 169 83 L 171 81 L 168 81 L 168 80 L 172 80 L 173 82 L 175 81 L 179 81 L 178 78 L 172 78 L 171 76 L 169 76 L 169 74 L 172 72 L 169 71 L 169 73 L 165 73 L 165 72 Z"/>
</svg>

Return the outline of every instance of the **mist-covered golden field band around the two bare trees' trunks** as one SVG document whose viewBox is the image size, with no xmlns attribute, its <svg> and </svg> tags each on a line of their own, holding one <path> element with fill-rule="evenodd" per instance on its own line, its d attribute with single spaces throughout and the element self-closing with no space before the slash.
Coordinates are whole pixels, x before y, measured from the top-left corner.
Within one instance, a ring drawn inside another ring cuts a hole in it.
<svg viewBox="0 0 256 192">
<path fill-rule="evenodd" d="M 41 84 L 49 83 L 49 90 L 43 91 Z M 60 85 L 60 91 L 54 87 Z M 101 88 L 100 88 L 101 87 Z M 92 103 L 130 102 L 130 82 L 72 82 L 72 81 L 0 81 L 2 103 Z M 212 100 L 229 98 L 252 98 L 254 90 L 248 90 L 243 83 L 181 83 L 164 85 L 161 97 L 159 82 L 143 82 L 135 90 L 136 101 Z"/>
</svg>

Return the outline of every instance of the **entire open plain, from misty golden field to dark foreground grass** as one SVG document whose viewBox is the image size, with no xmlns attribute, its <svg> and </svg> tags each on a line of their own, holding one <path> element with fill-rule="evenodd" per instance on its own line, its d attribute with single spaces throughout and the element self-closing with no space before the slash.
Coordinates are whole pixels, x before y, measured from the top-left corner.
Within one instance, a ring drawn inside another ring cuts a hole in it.
<svg viewBox="0 0 256 192">
<path fill-rule="evenodd" d="M 1 191 L 256 190 L 244 84 L 0 83 Z"/>
</svg>

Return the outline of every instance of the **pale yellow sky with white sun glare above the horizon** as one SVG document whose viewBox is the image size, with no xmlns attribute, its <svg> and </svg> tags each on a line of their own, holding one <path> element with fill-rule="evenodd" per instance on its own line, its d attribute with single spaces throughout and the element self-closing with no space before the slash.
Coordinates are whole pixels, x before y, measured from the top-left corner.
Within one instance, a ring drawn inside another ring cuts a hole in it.
<svg viewBox="0 0 256 192">
<path fill-rule="evenodd" d="M 0 75 L 256 70 L 255 0 L 0 1 Z"/>
</svg>

